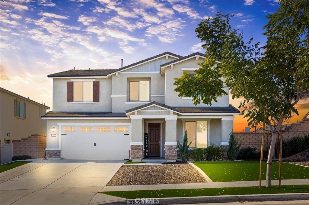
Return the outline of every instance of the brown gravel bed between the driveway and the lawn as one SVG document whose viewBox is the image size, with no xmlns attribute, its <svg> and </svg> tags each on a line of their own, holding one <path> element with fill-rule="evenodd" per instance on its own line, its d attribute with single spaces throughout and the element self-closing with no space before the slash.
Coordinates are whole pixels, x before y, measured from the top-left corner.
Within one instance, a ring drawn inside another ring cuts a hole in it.
<svg viewBox="0 0 309 205">
<path fill-rule="evenodd" d="M 122 166 L 107 186 L 201 183 L 206 179 L 188 163 Z"/>
</svg>

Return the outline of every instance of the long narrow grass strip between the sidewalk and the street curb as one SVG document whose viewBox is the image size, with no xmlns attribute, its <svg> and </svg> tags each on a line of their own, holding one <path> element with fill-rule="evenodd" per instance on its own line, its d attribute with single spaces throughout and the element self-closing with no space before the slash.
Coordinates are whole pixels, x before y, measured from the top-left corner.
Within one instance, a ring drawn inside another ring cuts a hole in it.
<svg viewBox="0 0 309 205">
<path fill-rule="evenodd" d="M 281 193 L 308 193 L 309 185 L 286 185 L 282 187 L 231 187 L 205 189 L 166 189 L 143 191 L 103 191 L 102 194 L 118 196 L 126 199 L 135 198 L 164 198 L 190 196 L 218 196 L 218 195 L 246 195 L 246 194 L 281 194 Z"/>
</svg>

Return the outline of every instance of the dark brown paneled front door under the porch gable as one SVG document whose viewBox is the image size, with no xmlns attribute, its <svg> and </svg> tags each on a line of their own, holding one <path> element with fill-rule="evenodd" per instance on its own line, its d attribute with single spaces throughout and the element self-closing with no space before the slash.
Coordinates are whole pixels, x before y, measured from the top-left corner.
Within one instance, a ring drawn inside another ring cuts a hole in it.
<svg viewBox="0 0 309 205">
<path fill-rule="evenodd" d="M 148 134 L 149 156 L 160 157 L 160 123 L 149 123 Z"/>
</svg>

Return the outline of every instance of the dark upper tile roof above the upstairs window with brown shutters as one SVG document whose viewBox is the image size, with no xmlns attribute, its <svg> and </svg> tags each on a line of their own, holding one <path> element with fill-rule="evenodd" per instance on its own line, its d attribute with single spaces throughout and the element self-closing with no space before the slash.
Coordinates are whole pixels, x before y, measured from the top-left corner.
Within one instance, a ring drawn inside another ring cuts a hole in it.
<svg viewBox="0 0 309 205">
<path fill-rule="evenodd" d="M 47 77 L 67 77 L 67 76 L 106 76 L 116 69 L 88 69 L 88 70 L 66 70 L 59 73 L 49 74 Z"/>
</svg>

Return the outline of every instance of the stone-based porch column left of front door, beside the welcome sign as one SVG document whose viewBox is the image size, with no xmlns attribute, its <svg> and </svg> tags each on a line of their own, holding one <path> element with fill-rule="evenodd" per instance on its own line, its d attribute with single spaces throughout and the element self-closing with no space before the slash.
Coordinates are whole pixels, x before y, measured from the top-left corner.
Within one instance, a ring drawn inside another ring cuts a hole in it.
<svg viewBox="0 0 309 205">
<path fill-rule="evenodd" d="M 143 130 L 142 119 L 131 118 L 130 158 L 132 162 L 141 162 L 143 159 Z"/>
</svg>

